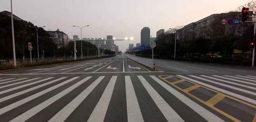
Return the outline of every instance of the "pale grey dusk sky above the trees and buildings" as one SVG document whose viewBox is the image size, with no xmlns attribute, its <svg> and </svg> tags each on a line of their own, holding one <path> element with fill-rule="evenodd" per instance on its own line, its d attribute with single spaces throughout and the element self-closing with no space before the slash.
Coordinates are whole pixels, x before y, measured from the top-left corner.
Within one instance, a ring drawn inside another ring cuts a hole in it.
<svg viewBox="0 0 256 122">
<path fill-rule="evenodd" d="M 125 51 L 129 43 L 140 43 L 140 30 L 156 31 L 187 25 L 214 13 L 222 13 L 248 3 L 249 0 L 12 0 L 13 14 L 45 30 L 60 31 L 69 38 L 83 28 L 83 38 L 116 39 L 133 37 L 133 41 L 115 41 Z M 11 0 L 0 0 L 0 11 L 11 11 Z M 199 14 L 201 13 L 201 14 Z"/>
</svg>

